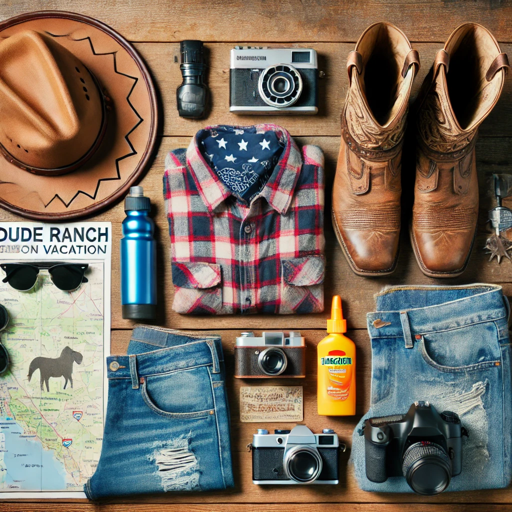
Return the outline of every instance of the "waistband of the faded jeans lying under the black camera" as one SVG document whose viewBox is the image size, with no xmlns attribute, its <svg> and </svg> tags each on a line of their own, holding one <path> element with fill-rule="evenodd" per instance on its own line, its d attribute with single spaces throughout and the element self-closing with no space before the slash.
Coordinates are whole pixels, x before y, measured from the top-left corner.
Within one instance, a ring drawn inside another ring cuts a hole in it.
<svg viewBox="0 0 512 512">
<path fill-rule="evenodd" d="M 397 286 L 376 296 L 379 311 L 367 314 L 368 331 L 371 338 L 404 337 L 412 346 L 412 336 L 505 318 L 505 301 L 498 285 Z"/>
</svg>

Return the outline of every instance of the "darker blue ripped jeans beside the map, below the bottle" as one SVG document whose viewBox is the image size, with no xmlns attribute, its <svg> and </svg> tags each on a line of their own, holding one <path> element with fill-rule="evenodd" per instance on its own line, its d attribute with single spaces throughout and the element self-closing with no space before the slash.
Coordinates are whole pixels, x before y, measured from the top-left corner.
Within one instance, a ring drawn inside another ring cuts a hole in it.
<svg viewBox="0 0 512 512">
<path fill-rule="evenodd" d="M 233 486 L 221 338 L 136 327 L 106 360 L 109 401 L 89 499 Z"/>
</svg>

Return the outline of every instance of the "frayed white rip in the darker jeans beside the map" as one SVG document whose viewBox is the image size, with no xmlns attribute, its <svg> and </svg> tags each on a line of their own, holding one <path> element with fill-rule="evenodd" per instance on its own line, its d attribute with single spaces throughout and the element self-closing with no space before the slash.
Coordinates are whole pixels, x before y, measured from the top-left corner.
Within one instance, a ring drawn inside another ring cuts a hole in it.
<svg viewBox="0 0 512 512">
<path fill-rule="evenodd" d="M 155 475 L 160 477 L 165 492 L 199 487 L 198 460 L 190 450 L 188 437 L 157 443 L 155 451 L 148 458 L 157 465 Z"/>
</svg>

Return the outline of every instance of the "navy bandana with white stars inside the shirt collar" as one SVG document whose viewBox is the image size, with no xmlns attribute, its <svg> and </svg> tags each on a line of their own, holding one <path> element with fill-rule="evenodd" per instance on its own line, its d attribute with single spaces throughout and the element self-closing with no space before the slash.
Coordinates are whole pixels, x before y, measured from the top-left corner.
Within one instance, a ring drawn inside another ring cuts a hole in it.
<svg viewBox="0 0 512 512">
<path fill-rule="evenodd" d="M 254 126 L 219 126 L 205 131 L 201 152 L 219 179 L 246 202 L 268 181 L 284 146 L 275 132 L 256 133 Z"/>
</svg>

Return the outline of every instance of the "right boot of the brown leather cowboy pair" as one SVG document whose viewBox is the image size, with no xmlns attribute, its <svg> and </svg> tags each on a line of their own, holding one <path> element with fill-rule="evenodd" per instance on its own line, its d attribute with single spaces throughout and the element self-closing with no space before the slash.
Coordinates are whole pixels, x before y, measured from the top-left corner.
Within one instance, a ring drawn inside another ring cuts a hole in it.
<svg viewBox="0 0 512 512">
<path fill-rule="evenodd" d="M 466 23 L 437 52 L 423 82 L 410 232 L 425 275 L 455 277 L 470 258 L 478 218 L 478 126 L 498 101 L 507 68 L 493 35 Z"/>
</svg>

